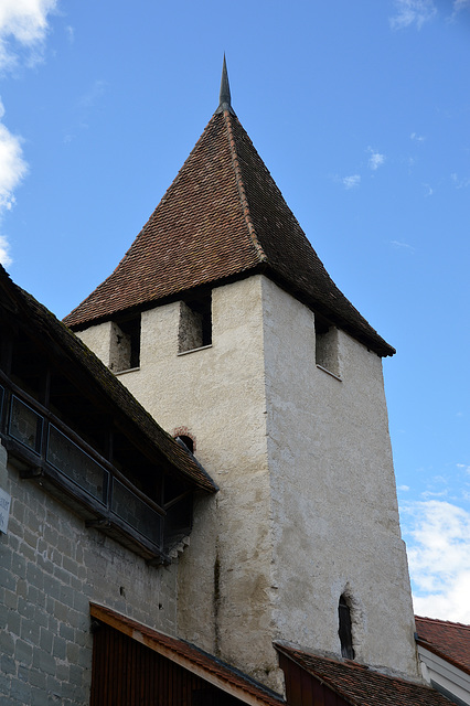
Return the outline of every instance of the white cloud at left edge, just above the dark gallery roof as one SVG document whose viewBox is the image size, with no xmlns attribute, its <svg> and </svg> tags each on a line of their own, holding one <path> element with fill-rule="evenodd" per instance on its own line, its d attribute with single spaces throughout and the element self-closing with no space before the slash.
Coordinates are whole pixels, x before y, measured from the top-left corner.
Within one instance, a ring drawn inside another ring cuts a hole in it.
<svg viewBox="0 0 470 706">
<path fill-rule="evenodd" d="M 7 211 L 14 204 L 14 190 L 28 171 L 23 159 L 21 138 L 12 135 L 2 122 L 4 116 L 3 104 L 0 99 L 0 222 Z M 11 265 L 9 244 L 4 235 L 0 236 L 0 263 Z"/>
</svg>

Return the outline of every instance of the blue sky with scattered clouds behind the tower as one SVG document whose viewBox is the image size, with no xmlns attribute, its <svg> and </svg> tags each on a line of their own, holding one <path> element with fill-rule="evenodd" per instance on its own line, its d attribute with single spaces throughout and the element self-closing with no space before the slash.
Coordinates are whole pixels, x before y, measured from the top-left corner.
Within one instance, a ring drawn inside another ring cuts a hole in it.
<svg viewBox="0 0 470 706">
<path fill-rule="evenodd" d="M 470 622 L 470 0 L 2 0 L 0 254 L 58 317 L 235 111 L 384 362 L 415 609 Z"/>
</svg>

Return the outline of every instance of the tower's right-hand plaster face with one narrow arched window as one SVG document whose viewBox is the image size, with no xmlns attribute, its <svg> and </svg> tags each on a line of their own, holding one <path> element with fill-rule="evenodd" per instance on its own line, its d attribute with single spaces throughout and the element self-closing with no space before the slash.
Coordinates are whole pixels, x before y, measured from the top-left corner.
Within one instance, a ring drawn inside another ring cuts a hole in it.
<svg viewBox="0 0 470 706">
<path fill-rule="evenodd" d="M 314 315 L 265 279 L 268 457 L 277 639 L 418 678 L 382 361 L 338 331 L 341 379 L 316 364 Z"/>
</svg>

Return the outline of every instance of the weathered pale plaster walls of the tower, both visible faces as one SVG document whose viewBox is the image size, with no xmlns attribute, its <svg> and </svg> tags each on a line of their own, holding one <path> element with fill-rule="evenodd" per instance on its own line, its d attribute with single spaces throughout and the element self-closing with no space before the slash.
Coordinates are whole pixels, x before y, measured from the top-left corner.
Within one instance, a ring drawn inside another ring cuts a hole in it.
<svg viewBox="0 0 470 706">
<path fill-rule="evenodd" d="M 178 355 L 180 302 L 142 312 L 121 377 L 221 489 L 180 559 L 180 635 L 280 689 L 273 640 L 340 656 L 346 592 L 356 659 L 418 678 L 381 360 L 334 330 L 328 375 L 313 313 L 263 276 L 214 289 L 212 321 Z"/>
</svg>

